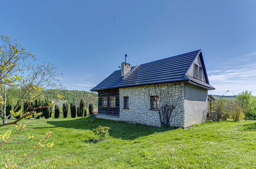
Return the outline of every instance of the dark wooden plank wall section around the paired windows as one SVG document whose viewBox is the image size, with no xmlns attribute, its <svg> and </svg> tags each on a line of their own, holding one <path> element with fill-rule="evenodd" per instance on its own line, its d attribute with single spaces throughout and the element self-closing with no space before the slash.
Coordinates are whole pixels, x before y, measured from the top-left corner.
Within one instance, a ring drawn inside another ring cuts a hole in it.
<svg viewBox="0 0 256 169">
<path fill-rule="evenodd" d="M 99 103 L 98 103 L 98 113 L 108 114 L 108 115 L 119 115 L 119 89 L 108 89 L 98 91 L 99 93 Z M 110 108 L 110 97 L 115 97 L 115 108 Z M 108 98 L 108 106 L 105 108 L 102 104 L 102 98 Z"/>
</svg>

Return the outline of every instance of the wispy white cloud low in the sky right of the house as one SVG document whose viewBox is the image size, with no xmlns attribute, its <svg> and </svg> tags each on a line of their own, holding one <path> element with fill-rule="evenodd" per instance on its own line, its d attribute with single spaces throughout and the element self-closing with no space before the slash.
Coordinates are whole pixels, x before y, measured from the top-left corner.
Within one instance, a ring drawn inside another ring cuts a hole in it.
<svg viewBox="0 0 256 169">
<path fill-rule="evenodd" d="M 209 93 L 223 94 L 229 90 L 229 95 L 232 95 L 244 90 L 251 90 L 256 95 L 255 55 L 256 52 L 253 52 L 228 59 L 228 62 L 220 62 L 217 70 L 208 71 L 210 84 L 215 88 L 214 91 L 209 91 Z"/>
</svg>

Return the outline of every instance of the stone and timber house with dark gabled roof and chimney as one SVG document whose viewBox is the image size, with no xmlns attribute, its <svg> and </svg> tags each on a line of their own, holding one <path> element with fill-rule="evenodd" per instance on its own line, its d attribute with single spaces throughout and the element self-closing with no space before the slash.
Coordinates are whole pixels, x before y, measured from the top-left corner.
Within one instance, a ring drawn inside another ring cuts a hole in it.
<svg viewBox="0 0 256 169">
<path fill-rule="evenodd" d="M 201 50 L 131 67 L 127 62 L 99 85 L 97 118 L 161 126 L 159 109 L 175 104 L 169 124 L 205 121 L 209 85 Z"/>
</svg>

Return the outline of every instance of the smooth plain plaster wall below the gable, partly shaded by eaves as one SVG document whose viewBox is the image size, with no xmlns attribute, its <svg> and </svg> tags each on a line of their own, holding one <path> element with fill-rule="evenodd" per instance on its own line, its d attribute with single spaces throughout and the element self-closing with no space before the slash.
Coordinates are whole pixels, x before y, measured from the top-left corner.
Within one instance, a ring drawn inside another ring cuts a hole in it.
<svg viewBox="0 0 256 169">
<path fill-rule="evenodd" d="M 206 120 L 208 90 L 193 85 L 185 85 L 184 128 Z"/>
</svg>

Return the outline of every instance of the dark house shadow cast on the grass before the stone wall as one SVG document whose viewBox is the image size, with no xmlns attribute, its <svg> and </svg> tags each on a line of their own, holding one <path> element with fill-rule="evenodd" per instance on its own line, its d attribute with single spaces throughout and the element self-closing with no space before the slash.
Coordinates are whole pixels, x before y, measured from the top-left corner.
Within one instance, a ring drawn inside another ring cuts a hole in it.
<svg viewBox="0 0 256 169">
<path fill-rule="evenodd" d="M 112 121 L 105 119 L 95 119 L 93 123 L 89 122 L 88 117 L 85 118 L 75 118 L 74 120 L 58 120 L 58 121 L 47 121 L 47 123 L 52 124 L 49 128 L 59 127 L 59 128 L 71 128 L 71 129 L 81 129 L 81 130 L 93 130 L 99 125 L 108 126 L 110 129 L 109 135 L 114 138 L 121 138 L 124 140 L 134 140 L 142 136 L 148 136 L 156 132 L 167 131 L 163 128 L 158 128 L 154 126 L 133 124 L 123 121 Z M 175 130 L 177 128 L 171 128 L 168 130 Z"/>
</svg>

